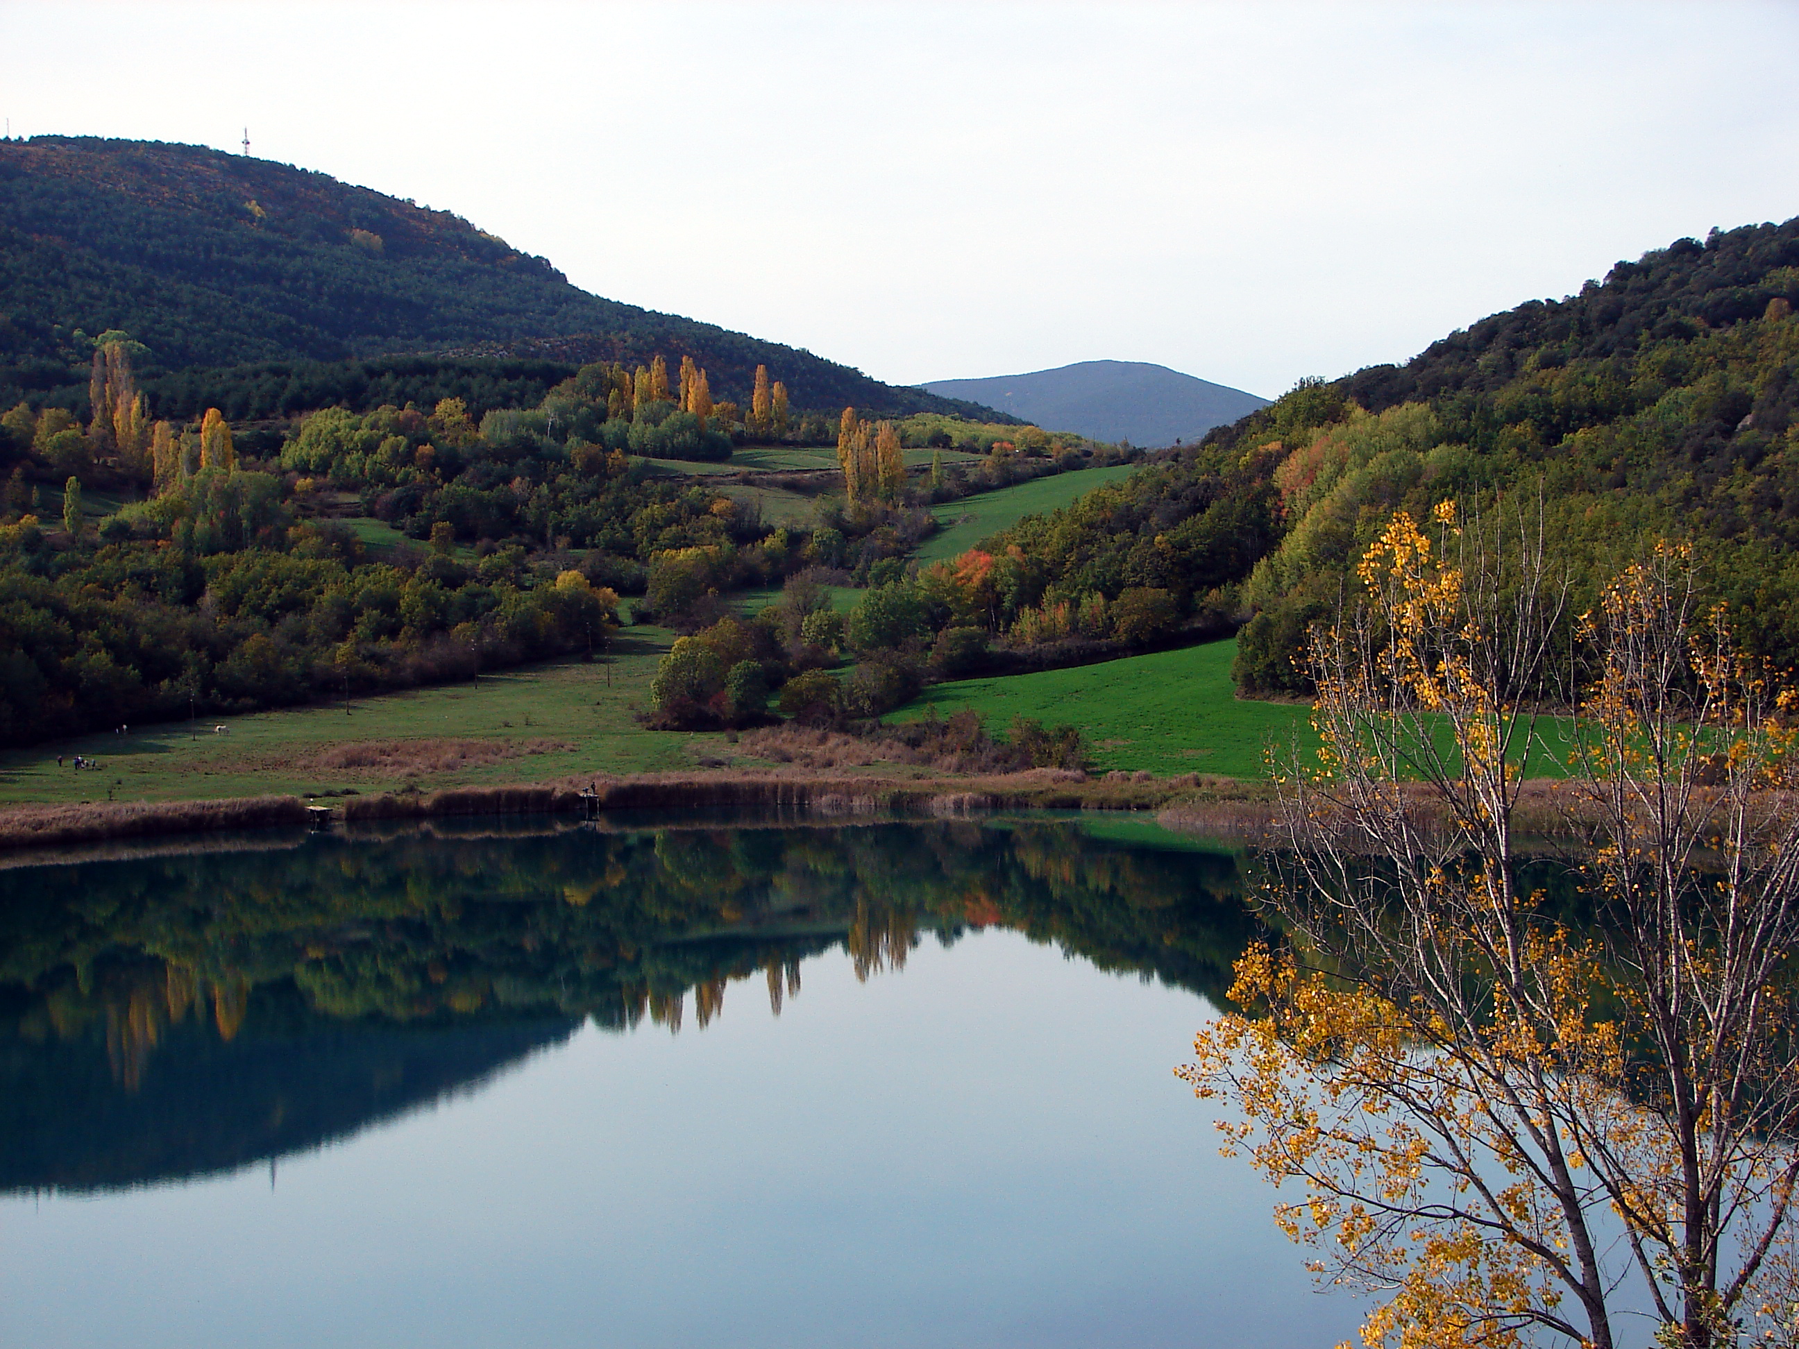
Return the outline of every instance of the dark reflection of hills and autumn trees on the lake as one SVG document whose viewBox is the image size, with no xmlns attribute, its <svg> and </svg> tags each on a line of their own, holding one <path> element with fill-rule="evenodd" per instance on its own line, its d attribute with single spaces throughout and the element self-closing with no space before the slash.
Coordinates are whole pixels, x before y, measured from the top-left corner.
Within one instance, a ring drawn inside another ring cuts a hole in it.
<svg viewBox="0 0 1799 1349">
<path fill-rule="evenodd" d="M 1078 822 L 477 826 L 20 869 L 0 907 L 0 1191 L 201 1176 L 567 1041 L 804 996 L 1013 928 L 1218 998 L 1238 858 Z M 729 995 L 729 998 L 727 998 Z"/>
</svg>

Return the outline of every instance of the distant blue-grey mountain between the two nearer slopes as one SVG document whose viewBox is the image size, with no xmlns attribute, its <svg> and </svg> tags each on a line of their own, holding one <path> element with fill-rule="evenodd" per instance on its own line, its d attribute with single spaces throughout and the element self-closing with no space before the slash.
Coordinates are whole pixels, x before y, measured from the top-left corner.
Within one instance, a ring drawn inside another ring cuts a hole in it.
<svg viewBox="0 0 1799 1349">
<path fill-rule="evenodd" d="M 1000 374 L 991 380 L 932 380 L 932 394 L 984 403 L 1036 423 L 1047 432 L 1074 432 L 1096 441 L 1164 446 L 1198 441 L 1268 399 L 1227 389 L 1166 365 L 1146 362 L 1076 362 L 1054 371 Z"/>
</svg>

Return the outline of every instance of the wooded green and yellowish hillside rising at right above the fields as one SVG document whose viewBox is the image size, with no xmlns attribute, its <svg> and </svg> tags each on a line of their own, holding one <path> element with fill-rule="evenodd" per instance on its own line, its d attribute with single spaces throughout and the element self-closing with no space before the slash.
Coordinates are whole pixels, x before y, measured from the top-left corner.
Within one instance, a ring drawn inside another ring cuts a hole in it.
<svg viewBox="0 0 1799 1349">
<path fill-rule="evenodd" d="M 997 540 L 1015 608 L 1132 586 L 1247 617 L 1238 682 L 1304 691 L 1308 626 L 1405 509 L 1544 502 L 1574 606 L 1689 540 L 1741 639 L 1799 667 L 1799 219 L 1680 239 L 1405 365 L 1310 380 Z"/>
</svg>

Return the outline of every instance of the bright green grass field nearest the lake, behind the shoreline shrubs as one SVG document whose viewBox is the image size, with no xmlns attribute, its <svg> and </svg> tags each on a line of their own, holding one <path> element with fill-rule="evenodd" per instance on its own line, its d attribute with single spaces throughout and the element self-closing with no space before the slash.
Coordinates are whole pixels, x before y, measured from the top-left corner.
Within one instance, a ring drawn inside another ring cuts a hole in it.
<svg viewBox="0 0 1799 1349">
<path fill-rule="evenodd" d="M 1263 748 L 1304 727 L 1306 709 L 1240 700 L 1231 683 L 1234 657 L 1232 639 L 1101 666 L 939 683 L 896 719 L 923 716 L 926 707 L 944 718 L 971 707 L 1000 732 L 1015 716 L 1076 725 L 1101 770 L 1261 777 Z"/>
</svg>

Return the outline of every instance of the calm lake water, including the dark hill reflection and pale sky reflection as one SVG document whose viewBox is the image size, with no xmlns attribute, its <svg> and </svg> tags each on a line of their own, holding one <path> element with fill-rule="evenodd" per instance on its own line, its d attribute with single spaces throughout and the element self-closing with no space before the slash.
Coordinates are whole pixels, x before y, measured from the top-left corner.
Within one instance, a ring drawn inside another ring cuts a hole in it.
<svg viewBox="0 0 1799 1349">
<path fill-rule="evenodd" d="M 1171 1074 L 1241 885 L 1045 818 L 0 871 L 0 1342 L 1333 1344 Z"/>
</svg>

